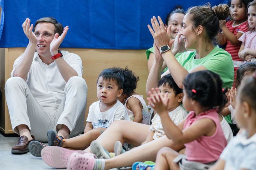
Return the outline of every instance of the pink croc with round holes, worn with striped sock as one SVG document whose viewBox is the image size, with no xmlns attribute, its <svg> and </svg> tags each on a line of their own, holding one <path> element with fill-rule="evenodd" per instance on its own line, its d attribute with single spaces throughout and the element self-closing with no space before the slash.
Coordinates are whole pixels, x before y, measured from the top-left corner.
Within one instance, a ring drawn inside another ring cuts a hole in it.
<svg viewBox="0 0 256 170">
<path fill-rule="evenodd" d="M 68 170 L 92 170 L 96 156 L 92 153 L 72 153 L 68 159 Z"/>
</svg>

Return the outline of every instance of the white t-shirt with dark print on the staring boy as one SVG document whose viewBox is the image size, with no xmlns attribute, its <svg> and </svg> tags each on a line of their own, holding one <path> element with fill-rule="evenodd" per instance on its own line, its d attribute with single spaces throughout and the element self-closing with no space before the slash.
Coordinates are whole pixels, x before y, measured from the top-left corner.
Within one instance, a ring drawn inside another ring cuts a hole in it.
<svg viewBox="0 0 256 170">
<path fill-rule="evenodd" d="M 116 104 L 105 112 L 100 111 L 100 100 L 92 103 L 86 122 L 92 122 L 92 128 L 108 128 L 116 120 L 130 121 L 124 105 L 117 100 Z"/>
</svg>

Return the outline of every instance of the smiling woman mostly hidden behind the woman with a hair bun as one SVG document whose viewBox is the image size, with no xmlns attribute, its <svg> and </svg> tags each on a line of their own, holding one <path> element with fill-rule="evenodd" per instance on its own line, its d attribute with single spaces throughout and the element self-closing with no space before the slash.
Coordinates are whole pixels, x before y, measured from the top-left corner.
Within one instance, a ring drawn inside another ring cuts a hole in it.
<svg viewBox="0 0 256 170">
<path fill-rule="evenodd" d="M 178 6 L 176 9 L 172 10 L 171 12 L 169 12 L 168 15 L 166 16 L 164 27 L 167 29 L 168 26 L 170 25 L 172 26 L 171 40 L 175 39 L 175 37 L 179 33 L 179 30 L 182 28 L 182 21 L 184 16 L 185 16 L 185 11 L 180 6 Z M 174 48 L 174 45 L 172 45 L 172 52 L 177 58 L 180 54 L 182 54 L 185 51 L 185 48 L 184 48 L 184 43 L 180 43 L 180 44 L 176 43 L 176 44 L 178 46 L 176 45 L 175 48 Z M 151 47 L 146 51 L 146 56 L 148 60 L 148 72 L 150 72 L 151 67 L 155 60 L 154 47 Z M 166 70 L 168 70 L 168 68 L 164 62 L 162 66 L 162 71 L 165 72 Z"/>
</svg>

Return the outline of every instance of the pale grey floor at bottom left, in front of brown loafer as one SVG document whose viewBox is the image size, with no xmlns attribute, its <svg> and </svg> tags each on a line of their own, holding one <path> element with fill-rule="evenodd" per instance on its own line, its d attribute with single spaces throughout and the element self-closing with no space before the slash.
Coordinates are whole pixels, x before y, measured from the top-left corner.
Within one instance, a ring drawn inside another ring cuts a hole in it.
<svg viewBox="0 0 256 170">
<path fill-rule="evenodd" d="M 54 169 L 45 164 L 43 159 L 31 155 L 30 152 L 21 155 L 12 154 L 12 146 L 17 143 L 18 139 L 19 137 L 4 137 L 0 133 L 0 170 Z"/>
</svg>

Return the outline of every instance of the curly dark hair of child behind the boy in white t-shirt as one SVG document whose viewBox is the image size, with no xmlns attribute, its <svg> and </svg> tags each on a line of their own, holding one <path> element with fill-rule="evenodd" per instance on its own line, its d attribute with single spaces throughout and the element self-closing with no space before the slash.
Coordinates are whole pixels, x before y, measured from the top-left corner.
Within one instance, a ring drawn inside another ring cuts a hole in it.
<svg viewBox="0 0 256 170">
<path fill-rule="evenodd" d="M 136 89 L 137 82 L 140 78 L 136 77 L 132 70 L 129 70 L 128 67 L 125 67 L 124 69 L 113 67 L 113 69 L 116 69 L 118 72 L 122 73 L 124 77 L 123 94 L 127 94 L 129 96 Z"/>
</svg>

